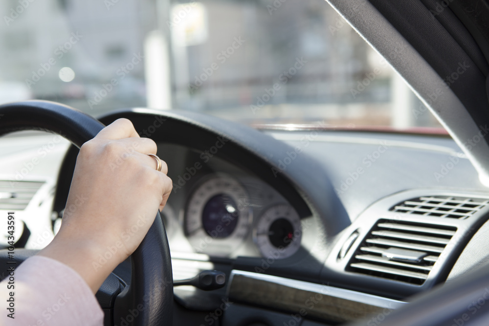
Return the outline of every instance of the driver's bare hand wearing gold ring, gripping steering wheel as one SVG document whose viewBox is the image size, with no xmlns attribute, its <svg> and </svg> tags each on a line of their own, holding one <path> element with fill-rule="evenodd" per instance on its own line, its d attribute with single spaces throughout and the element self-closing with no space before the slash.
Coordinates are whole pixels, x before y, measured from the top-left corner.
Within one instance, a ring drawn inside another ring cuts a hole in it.
<svg viewBox="0 0 489 326">
<path fill-rule="evenodd" d="M 118 119 L 86 142 L 76 160 L 60 231 L 41 252 L 61 261 L 95 293 L 131 255 L 172 190 L 168 168 L 156 171 L 156 144 Z"/>
</svg>

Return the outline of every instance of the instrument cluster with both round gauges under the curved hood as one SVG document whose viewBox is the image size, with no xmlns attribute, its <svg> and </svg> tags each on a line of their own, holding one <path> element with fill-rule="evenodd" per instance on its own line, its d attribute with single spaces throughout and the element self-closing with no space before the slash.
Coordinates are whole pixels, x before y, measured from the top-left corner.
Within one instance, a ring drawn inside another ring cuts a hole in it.
<svg viewBox="0 0 489 326">
<path fill-rule="evenodd" d="M 187 248 L 213 257 L 283 259 L 301 245 L 297 212 L 277 191 L 250 176 L 201 177 L 185 200 L 180 224 Z"/>
</svg>

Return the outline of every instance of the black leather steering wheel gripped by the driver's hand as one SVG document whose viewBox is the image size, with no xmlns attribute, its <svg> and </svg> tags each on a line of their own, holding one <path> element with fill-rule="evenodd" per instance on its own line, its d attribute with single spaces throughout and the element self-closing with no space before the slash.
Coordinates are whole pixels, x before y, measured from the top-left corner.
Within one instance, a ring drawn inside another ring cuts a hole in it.
<svg viewBox="0 0 489 326">
<path fill-rule="evenodd" d="M 53 102 L 24 101 L 0 106 L 0 135 L 43 130 L 59 134 L 80 148 L 103 128 L 102 123 L 88 114 Z M 20 263 L 36 252 L 16 249 L 15 257 Z M 4 261 L 7 261 L 7 251 L 0 250 L 0 262 Z M 104 325 L 121 324 L 122 320 L 126 321 L 124 325 L 133 326 L 172 325 L 172 261 L 159 212 L 131 255 L 131 283 L 124 286 L 111 274 L 97 293 L 97 299 L 104 309 Z"/>
</svg>

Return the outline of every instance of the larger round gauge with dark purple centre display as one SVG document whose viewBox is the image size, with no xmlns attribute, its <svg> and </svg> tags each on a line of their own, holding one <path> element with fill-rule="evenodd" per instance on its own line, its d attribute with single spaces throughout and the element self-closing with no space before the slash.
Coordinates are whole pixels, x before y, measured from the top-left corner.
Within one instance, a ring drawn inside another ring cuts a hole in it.
<svg viewBox="0 0 489 326">
<path fill-rule="evenodd" d="M 244 187 L 227 175 L 200 184 L 185 209 L 185 235 L 194 251 L 229 256 L 249 231 L 251 210 Z"/>
</svg>

